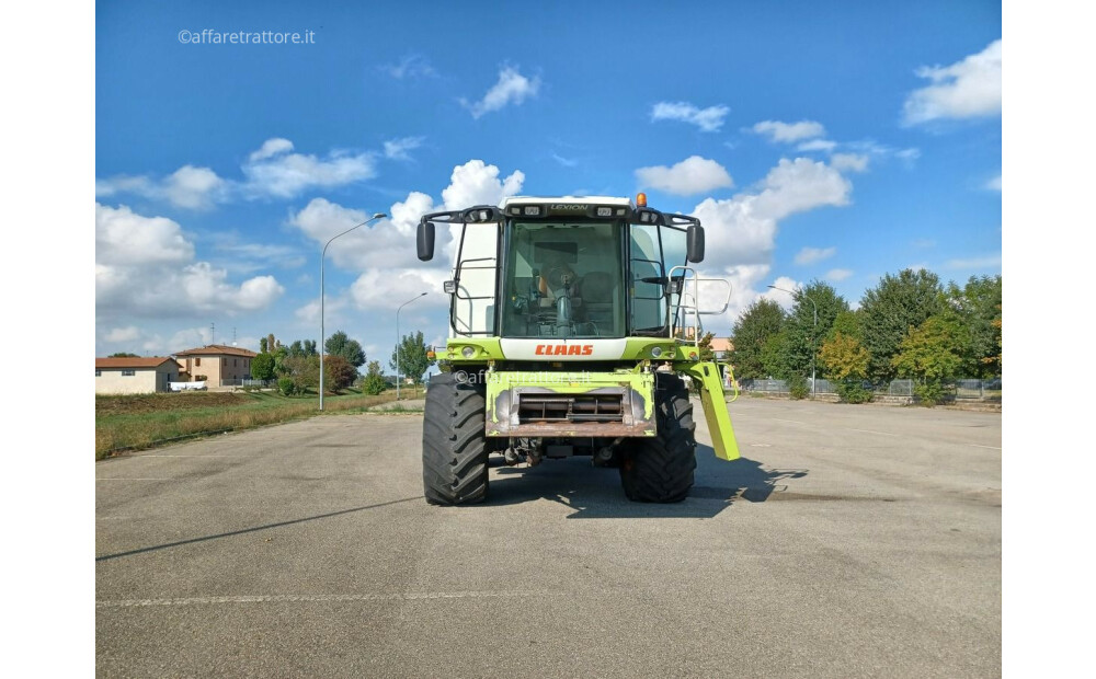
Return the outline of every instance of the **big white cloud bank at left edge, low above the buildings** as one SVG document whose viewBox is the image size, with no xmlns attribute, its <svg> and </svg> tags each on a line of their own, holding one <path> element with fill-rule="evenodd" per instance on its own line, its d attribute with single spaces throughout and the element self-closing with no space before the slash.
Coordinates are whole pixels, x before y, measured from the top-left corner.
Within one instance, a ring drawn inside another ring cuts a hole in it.
<svg viewBox="0 0 1096 679">
<path fill-rule="evenodd" d="M 273 276 L 236 285 L 225 269 L 194 262 L 180 226 L 126 206 L 95 204 L 95 309 L 105 321 L 265 309 L 284 289 Z"/>
</svg>

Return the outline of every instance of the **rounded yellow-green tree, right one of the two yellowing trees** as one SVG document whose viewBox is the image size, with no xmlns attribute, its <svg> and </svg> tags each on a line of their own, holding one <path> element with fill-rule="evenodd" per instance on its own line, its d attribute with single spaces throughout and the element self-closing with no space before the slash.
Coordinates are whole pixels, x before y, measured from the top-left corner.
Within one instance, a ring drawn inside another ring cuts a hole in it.
<svg viewBox="0 0 1096 679">
<path fill-rule="evenodd" d="M 935 315 L 910 332 L 899 345 L 891 365 L 900 377 L 916 381 L 914 393 L 926 404 L 939 403 L 944 382 L 955 379 L 962 366 L 966 329 L 944 315 Z"/>
</svg>

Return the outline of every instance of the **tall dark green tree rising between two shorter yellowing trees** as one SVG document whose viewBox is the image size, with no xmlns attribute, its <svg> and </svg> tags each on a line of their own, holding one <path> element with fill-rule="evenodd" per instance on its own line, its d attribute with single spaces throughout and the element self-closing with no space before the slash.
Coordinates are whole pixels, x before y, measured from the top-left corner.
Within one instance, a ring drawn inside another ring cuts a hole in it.
<svg viewBox="0 0 1096 679">
<path fill-rule="evenodd" d="M 871 355 L 868 377 L 891 380 L 897 375 L 892 359 L 901 350 L 911 327 L 918 327 L 944 310 L 940 279 L 925 269 L 887 274 L 860 300 L 864 348 Z"/>
</svg>

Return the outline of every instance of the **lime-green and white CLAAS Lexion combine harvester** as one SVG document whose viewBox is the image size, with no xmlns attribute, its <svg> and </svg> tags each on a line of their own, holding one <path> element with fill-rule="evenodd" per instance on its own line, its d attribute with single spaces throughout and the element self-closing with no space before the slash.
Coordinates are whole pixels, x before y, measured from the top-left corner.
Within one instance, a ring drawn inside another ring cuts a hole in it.
<svg viewBox="0 0 1096 679">
<path fill-rule="evenodd" d="M 739 457 L 724 375 L 701 361 L 700 315 L 722 313 L 730 286 L 697 278 L 695 217 L 627 198 L 514 197 L 424 215 L 419 258 L 435 225 L 453 229 L 449 338 L 436 357 L 422 435 L 426 500 L 482 502 L 488 457 L 507 464 L 591 456 L 616 465 L 633 500 L 684 499 L 696 469 L 686 381 L 699 384 L 716 456 Z M 726 286 L 701 311 L 701 288 Z"/>
</svg>

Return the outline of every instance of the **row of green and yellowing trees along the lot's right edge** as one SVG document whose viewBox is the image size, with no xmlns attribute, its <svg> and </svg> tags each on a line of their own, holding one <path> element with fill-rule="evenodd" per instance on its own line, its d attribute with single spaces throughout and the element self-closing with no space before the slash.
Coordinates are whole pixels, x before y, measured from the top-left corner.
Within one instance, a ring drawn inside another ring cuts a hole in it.
<svg viewBox="0 0 1096 679">
<path fill-rule="evenodd" d="M 915 380 L 925 401 L 939 401 L 957 378 L 1001 375 L 1001 276 L 971 277 L 960 287 L 932 272 L 883 276 L 859 307 L 814 280 L 786 312 L 760 299 L 732 331 L 735 377 L 804 383 L 812 368 L 846 400 L 867 398 L 865 381 Z M 817 320 L 815 320 L 817 318 Z"/>
</svg>

